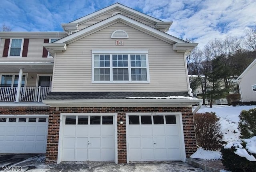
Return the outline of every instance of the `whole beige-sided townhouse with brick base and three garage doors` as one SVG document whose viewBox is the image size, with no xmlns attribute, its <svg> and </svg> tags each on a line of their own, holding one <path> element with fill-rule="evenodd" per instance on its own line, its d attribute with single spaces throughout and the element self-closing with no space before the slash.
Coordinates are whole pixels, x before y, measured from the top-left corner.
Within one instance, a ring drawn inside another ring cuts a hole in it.
<svg viewBox="0 0 256 172">
<path fill-rule="evenodd" d="M 197 43 L 165 33 L 171 23 L 116 3 L 64 32 L 0 33 L 0 152 L 185 161 L 196 151 L 192 105 L 202 104 L 185 60 Z"/>
</svg>

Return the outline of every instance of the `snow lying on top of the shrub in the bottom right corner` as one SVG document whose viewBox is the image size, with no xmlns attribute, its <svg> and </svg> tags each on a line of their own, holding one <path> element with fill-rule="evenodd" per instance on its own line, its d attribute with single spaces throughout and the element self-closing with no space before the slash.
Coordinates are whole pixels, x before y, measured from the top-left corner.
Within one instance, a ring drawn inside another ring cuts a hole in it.
<svg viewBox="0 0 256 172">
<path fill-rule="evenodd" d="M 241 157 L 245 157 L 249 161 L 256 161 L 256 158 L 248 153 L 250 152 L 256 154 L 256 136 L 250 139 L 244 139 L 244 142 L 246 143 L 246 149 L 243 148 L 241 142 L 229 143 L 228 145 L 224 146 L 224 149 L 230 149 L 231 147 L 235 147 L 235 154 Z"/>
</svg>

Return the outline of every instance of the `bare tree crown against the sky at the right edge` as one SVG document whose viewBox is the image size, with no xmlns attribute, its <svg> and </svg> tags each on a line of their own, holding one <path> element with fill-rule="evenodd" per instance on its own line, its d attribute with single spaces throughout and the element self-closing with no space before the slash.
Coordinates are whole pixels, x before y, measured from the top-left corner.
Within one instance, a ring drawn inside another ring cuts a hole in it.
<svg viewBox="0 0 256 172">
<path fill-rule="evenodd" d="M 256 52 L 256 26 L 245 31 L 244 45 L 250 51 Z"/>
</svg>

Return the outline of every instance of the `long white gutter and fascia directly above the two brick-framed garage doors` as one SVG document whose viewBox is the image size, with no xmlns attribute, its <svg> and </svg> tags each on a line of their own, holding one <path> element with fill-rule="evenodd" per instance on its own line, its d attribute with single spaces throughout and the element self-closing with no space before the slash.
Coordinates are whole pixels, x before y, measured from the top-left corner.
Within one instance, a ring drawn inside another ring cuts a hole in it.
<svg viewBox="0 0 256 172">
<path fill-rule="evenodd" d="M 103 100 L 43 100 L 44 104 L 51 107 L 187 107 L 202 102 L 201 99 L 188 100 L 188 99 L 103 99 Z"/>
</svg>

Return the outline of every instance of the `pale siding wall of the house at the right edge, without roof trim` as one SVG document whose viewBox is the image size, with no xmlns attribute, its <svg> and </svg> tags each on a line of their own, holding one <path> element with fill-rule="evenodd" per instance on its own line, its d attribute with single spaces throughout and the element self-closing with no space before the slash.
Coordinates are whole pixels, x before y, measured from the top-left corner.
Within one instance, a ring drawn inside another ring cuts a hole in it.
<svg viewBox="0 0 256 172">
<path fill-rule="evenodd" d="M 240 91 L 243 102 L 256 101 L 256 92 L 253 92 L 252 85 L 256 84 L 256 64 L 242 77 Z"/>
</svg>

